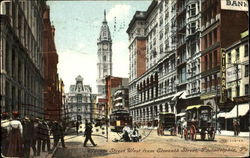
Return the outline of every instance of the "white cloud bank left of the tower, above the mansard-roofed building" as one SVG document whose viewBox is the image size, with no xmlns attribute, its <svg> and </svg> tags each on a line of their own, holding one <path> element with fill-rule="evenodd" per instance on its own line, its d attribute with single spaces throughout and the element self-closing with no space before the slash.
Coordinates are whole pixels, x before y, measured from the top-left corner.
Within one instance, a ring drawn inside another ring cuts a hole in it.
<svg viewBox="0 0 250 158">
<path fill-rule="evenodd" d="M 75 78 L 81 75 L 84 84 L 89 84 L 96 91 L 96 54 L 89 53 L 84 43 L 76 44 L 75 48 L 58 51 L 58 72 L 65 84 L 65 91 L 69 91 L 70 84 L 75 84 Z"/>
</svg>

